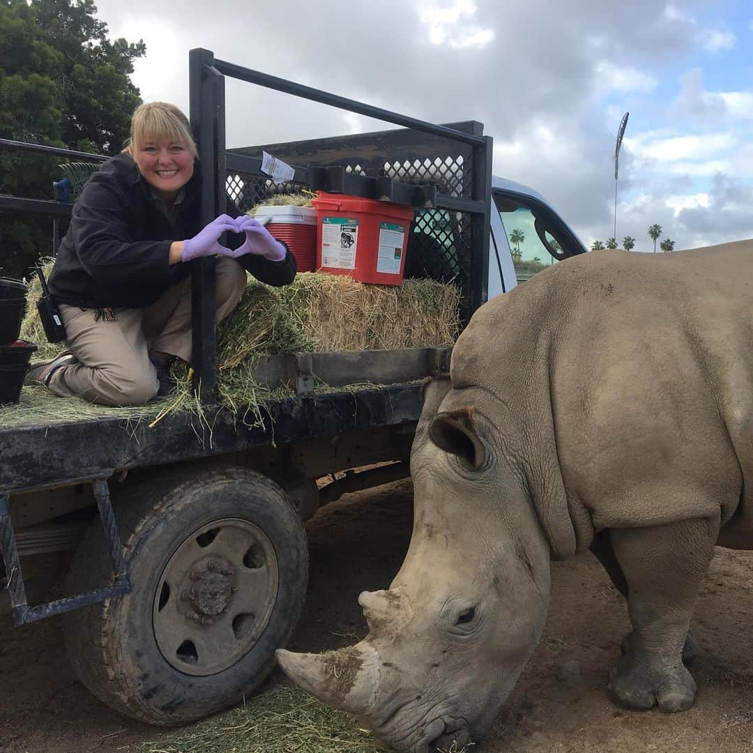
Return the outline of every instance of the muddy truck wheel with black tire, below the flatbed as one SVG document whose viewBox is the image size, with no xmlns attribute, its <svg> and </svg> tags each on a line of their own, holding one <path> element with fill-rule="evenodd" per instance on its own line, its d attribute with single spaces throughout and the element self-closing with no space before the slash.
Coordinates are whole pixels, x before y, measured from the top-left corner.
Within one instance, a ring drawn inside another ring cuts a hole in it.
<svg viewBox="0 0 753 753">
<path fill-rule="evenodd" d="M 133 590 L 65 615 L 69 660 L 93 694 L 163 726 L 243 700 L 290 639 L 308 578 L 306 533 L 285 492 L 242 468 L 169 471 L 114 497 Z M 111 578 L 99 520 L 67 590 Z"/>
</svg>

